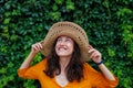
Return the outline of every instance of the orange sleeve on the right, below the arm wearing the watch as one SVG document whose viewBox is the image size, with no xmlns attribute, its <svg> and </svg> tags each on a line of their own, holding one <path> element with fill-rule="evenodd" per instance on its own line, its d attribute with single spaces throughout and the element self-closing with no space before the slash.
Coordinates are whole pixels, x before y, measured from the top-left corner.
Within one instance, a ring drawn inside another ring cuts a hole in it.
<svg viewBox="0 0 133 88">
<path fill-rule="evenodd" d="M 96 72 L 89 64 L 85 64 L 85 75 L 91 80 L 92 87 L 99 88 L 115 88 L 117 86 L 119 79 L 115 77 L 115 80 L 109 80 L 104 77 L 103 74 Z"/>
</svg>

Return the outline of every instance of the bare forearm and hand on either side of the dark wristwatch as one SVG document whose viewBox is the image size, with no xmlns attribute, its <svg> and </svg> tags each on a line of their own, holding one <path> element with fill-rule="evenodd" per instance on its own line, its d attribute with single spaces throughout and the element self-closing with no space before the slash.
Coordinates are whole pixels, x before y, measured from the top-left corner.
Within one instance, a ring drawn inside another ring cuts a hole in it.
<svg viewBox="0 0 133 88">
<path fill-rule="evenodd" d="M 100 63 L 102 61 L 101 53 L 94 50 L 91 45 L 89 46 L 89 48 L 90 48 L 89 53 L 91 54 L 90 58 L 92 58 L 94 63 Z M 105 78 L 110 80 L 115 80 L 113 74 L 108 69 L 108 67 L 103 63 L 99 65 L 99 68 L 101 69 Z"/>
</svg>

